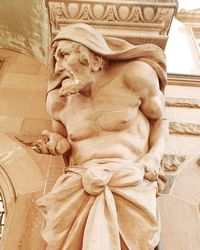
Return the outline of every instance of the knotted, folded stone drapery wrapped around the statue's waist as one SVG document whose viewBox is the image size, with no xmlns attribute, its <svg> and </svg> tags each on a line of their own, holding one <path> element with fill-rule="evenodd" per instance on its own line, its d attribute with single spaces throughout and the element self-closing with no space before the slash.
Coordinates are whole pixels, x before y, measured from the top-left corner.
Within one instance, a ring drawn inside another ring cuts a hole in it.
<svg viewBox="0 0 200 250">
<path fill-rule="evenodd" d="M 151 250 L 159 241 L 156 182 L 129 161 L 69 167 L 37 201 L 52 250 Z"/>
</svg>

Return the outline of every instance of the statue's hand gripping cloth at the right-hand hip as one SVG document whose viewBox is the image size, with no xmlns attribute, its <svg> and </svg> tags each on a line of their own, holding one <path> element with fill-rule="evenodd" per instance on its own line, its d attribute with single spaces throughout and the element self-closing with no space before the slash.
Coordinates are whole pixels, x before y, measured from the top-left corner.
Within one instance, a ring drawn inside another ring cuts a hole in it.
<svg viewBox="0 0 200 250">
<path fill-rule="evenodd" d="M 140 162 L 144 165 L 144 178 L 151 182 L 157 181 L 160 168 L 158 157 L 152 153 L 147 153 L 140 159 Z"/>
</svg>

